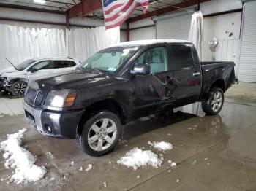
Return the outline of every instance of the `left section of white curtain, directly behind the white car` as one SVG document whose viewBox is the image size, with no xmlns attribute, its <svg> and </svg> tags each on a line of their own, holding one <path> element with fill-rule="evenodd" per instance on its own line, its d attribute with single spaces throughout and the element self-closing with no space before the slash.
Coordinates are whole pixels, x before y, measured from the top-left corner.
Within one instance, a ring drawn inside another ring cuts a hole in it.
<svg viewBox="0 0 256 191">
<path fill-rule="evenodd" d="M 34 23 L 0 23 L 0 69 L 33 57 L 65 57 L 64 28 Z"/>
</svg>

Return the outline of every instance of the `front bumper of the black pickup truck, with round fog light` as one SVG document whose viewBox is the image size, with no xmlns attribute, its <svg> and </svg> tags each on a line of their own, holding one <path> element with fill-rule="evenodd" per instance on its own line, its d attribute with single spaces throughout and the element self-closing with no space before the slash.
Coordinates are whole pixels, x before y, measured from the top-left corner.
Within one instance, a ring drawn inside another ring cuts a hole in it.
<svg viewBox="0 0 256 191">
<path fill-rule="evenodd" d="M 66 139 L 75 139 L 76 131 L 83 110 L 56 112 L 46 109 L 37 109 L 23 101 L 26 120 L 39 133 L 45 136 L 54 136 Z"/>
</svg>

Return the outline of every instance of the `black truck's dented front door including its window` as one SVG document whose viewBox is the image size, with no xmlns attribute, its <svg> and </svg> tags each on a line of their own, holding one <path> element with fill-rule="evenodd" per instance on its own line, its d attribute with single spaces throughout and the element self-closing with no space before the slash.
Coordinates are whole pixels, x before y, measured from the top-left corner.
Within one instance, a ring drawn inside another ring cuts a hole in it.
<svg viewBox="0 0 256 191">
<path fill-rule="evenodd" d="M 151 74 L 137 75 L 132 80 L 135 86 L 135 118 L 159 111 L 173 98 L 167 47 L 153 47 L 143 52 L 135 60 L 135 66 L 144 64 L 151 66 Z"/>
</svg>

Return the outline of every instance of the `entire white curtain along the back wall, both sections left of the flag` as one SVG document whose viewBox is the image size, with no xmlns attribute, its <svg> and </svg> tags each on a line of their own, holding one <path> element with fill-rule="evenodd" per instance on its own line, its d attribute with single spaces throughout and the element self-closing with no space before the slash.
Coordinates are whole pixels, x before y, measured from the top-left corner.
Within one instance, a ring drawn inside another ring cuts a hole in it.
<svg viewBox="0 0 256 191">
<path fill-rule="evenodd" d="M 0 69 L 34 57 L 71 57 L 85 60 L 120 42 L 120 28 L 71 28 L 35 23 L 0 22 Z"/>
</svg>

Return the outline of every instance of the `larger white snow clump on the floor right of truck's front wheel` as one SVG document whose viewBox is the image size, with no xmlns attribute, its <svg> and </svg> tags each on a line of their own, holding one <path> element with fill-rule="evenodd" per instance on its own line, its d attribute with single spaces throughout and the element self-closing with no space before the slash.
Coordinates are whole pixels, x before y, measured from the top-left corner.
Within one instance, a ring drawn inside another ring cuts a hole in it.
<svg viewBox="0 0 256 191">
<path fill-rule="evenodd" d="M 127 152 L 124 157 L 121 157 L 117 163 L 132 167 L 136 170 L 140 167 L 146 167 L 146 165 L 151 165 L 154 168 L 157 168 L 161 166 L 162 160 L 160 160 L 154 152 L 151 152 L 150 150 L 143 151 L 136 147 Z"/>
</svg>

